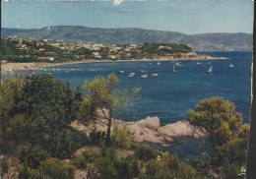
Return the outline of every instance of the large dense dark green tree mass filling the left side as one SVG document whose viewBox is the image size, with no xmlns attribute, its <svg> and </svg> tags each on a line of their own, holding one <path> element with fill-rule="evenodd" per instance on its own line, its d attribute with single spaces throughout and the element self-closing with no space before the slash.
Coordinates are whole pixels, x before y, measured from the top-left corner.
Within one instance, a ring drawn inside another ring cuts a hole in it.
<svg viewBox="0 0 256 179">
<path fill-rule="evenodd" d="M 80 116 L 80 89 L 54 81 L 50 75 L 8 78 L 1 82 L 0 149 L 15 152 L 31 144 L 66 157 L 87 143 L 85 134 L 72 129 Z"/>
</svg>

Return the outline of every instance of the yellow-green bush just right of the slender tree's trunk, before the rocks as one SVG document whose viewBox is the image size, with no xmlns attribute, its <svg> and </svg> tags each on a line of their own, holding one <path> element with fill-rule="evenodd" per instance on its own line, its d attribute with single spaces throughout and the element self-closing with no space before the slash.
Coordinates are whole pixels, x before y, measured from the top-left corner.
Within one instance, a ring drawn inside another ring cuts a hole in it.
<svg viewBox="0 0 256 179">
<path fill-rule="evenodd" d="M 115 148 L 130 149 L 132 144 L 130 131 L 121 129 L 115 125 L 111 134 L 111 142 Z"/>
</svg>

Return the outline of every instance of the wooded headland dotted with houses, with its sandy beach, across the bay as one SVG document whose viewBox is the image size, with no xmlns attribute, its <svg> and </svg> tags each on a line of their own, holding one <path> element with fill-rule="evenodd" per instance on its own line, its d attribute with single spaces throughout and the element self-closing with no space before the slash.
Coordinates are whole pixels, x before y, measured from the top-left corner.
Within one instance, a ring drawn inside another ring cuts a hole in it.
<svg viewBox="0 0 256 179">
<path fill-rule="evenodd" d="M 218 60 L 176 43 L 103 45 L 8 36 L 2 39 L 1 74 L 91 62 Z"/>
</svg>

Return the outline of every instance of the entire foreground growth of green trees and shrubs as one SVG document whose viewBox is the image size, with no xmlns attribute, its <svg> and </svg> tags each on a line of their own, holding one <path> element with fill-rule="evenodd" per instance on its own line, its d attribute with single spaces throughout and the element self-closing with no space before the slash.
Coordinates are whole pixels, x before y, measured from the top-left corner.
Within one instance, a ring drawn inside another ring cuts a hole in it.
<svg viewBox="0 0 256 179">
<path fill-rule="evenodd" d="M 133 149 L 130 132 L 117 126 L 110 133 L 111 113 L 130 100 L 127 92 L 117 91 L 118 83 L 114 74 L 97 78 L 86 82 L 87 93 L 83 94 L 50 75 L 2 81 L 0 153 L 5 157 L 0 158 L 1 176 L 13 166 L 8 157 L 15 156 L 21 179 L 70 179 L 77 168 L 87 170 L 88 178 L 94 179 L 240 177 L 237 173 L 245 166 L 250 126 L 242 125 L 232 102 L 212 97 L 188 111 L 190 123 L 209 132 L 214 152 L 204 152 L 202 160 L 181 161 L 176 153 L 147 146 Z M 86 124 L 98 117 L 108 125 L 106 135 L 95 130 L 88 139 L 70 126 L 73 120 Z M 89 149 L 74 156 L 77 149 L 102 142 L 112 148 L 102 145 L 101 153 Z"/>
</svg>

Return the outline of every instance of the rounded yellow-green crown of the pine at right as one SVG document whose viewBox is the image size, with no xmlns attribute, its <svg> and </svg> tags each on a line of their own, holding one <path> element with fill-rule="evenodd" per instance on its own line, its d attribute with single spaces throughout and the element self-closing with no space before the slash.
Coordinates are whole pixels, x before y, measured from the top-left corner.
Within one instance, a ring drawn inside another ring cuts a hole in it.
<svg viewBox="0 0 256 179">
<path fill-rule="evenodd" d="M 222 146 L 242 124 L 241 114 L 234 113 L 234 109 L 232 102 L 212 97 L 202 100 L 196 111 L 189 110 L 188 120 L 193 125 L 204 127 L 210 133 L 212 144 Z"/>
</svg>

